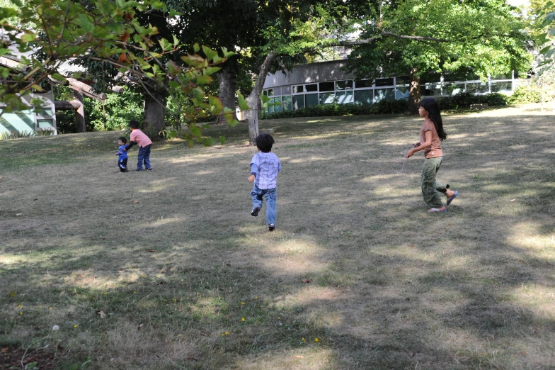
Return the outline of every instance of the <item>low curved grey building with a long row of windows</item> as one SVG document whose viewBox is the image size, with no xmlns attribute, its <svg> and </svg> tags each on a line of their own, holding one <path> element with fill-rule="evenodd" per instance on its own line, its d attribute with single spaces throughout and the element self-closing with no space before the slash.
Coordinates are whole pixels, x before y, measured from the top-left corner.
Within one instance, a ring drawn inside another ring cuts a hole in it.
<svg viewBox="0 0 555 370">
<path fill-rule="evenodd" d="M 345 65 L 345 60 L 333 60 L 295 66 L 285 73 L 268 74 L 263 94 L 270 96 L 270 103 L 281 103 L 281 106 L 268 106 L 265 111 L 277 113 L 319 104 L 370 104 L 408 98 L 409 76 L 357 81 L 354 74 L 341 69 Z M 420 96 L 452 96 L 462 92 L 512 94 L 519 84 L 527 84 L 527 80 L 515 79 L 514 73 L 488 78 L 486 82 L 477 77 L 458 81 L 449 74 L 432 74 L 420 80 Z"/>
</svg>

